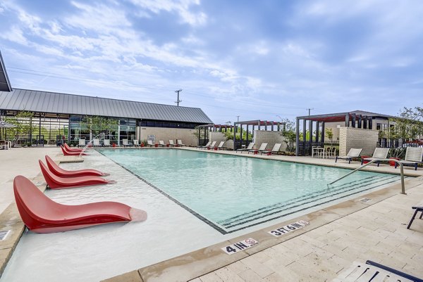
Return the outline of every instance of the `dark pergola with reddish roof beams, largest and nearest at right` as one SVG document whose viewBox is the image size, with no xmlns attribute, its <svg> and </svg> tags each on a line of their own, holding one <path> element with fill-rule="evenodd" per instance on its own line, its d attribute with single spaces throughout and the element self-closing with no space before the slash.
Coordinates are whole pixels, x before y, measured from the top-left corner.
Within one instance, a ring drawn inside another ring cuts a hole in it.
<svg viewBox="0 0 423 282">
<path fill-rule="evenodd" d="M 311 155 L 312 146 L 324 146 L 324 126 L 326 122 L 345 122 L 345 127 L 357 127 L 362 129 L 373 129 L 375 117 L 388 119 L 388 115 L 367 113 L 362 111 L 348 113 L 333 113 L 326 115 L 306 115 L 297 117 L 297 146 L 296 155 Z M 307 127 L 308 122 L 308 127 Z M 302 123 L 302 140 L 300 140 L 300 123 Z M 309 140 L 306 140 L 307 130 L 310 132 Z M 315 130 L 315 136 L 313 132 Z"/>
</svg>

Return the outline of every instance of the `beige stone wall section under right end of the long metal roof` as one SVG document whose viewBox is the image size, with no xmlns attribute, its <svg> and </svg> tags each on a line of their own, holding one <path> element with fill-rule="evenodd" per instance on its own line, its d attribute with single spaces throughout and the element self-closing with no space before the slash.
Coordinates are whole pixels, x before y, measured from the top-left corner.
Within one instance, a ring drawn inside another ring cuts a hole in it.
<svg viewBox="0 0 423 282">
<path fill-rule="evenodd" d="M 169 143 L 170 139 L 176 143 L 176 140 L 180 139 L 186 146 L 197 146 L 198 139 L 194 135 L 194 132 L 196 132 L 195 129 L 137 127 L 137 136 L 140 141 L 147 140 L 149 135 L 155 135 L 156 143 L 159 143 L 159 140 L 163 140 L 164 143 Z"/>
</svg>

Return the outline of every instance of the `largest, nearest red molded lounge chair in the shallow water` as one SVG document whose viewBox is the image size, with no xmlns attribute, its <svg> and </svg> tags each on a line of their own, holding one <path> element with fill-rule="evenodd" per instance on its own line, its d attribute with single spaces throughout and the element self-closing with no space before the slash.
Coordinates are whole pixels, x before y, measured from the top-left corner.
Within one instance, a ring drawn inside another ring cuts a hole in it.
<svg viewBox="0 0 423 282">
<path fill-rule="evenodd" d="M 32 182 L 18 175 L 13 181 L 16 205 L 28 229 L 37 233 L 62 232 L 111 222 L 142 222 L 147 212 L 116 202 L 61 205 Z"/>
</svg>

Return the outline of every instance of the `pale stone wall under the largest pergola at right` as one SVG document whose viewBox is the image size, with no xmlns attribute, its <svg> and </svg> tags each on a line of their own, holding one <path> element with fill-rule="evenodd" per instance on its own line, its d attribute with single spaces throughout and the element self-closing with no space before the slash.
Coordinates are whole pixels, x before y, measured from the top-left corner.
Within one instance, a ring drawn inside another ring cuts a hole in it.
<svg viewBox="0 0 423 282">
<path fill-rule="evenodd" d="M 340 127 L 339 155 L 347 155 L 350 148 L 362 148 L 361 155 L 372 155 L 377 145 L 378 136 L 377 130 Z"/>
</svg>

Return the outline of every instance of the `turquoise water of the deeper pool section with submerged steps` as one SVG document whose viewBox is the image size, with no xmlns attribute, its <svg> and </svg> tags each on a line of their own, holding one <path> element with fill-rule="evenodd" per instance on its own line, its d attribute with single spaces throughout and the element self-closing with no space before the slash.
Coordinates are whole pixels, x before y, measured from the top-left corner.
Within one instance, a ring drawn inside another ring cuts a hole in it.
<svg viewBox="0 0 423 282">
<path fill-rule="evenodd" d="M 393 174 L 173 149 L 100 150 L 225 234 L 393 184 Z"/>
</svg>

